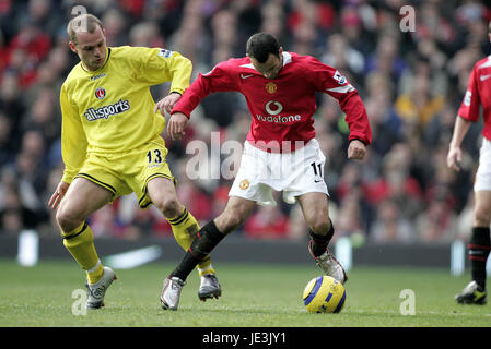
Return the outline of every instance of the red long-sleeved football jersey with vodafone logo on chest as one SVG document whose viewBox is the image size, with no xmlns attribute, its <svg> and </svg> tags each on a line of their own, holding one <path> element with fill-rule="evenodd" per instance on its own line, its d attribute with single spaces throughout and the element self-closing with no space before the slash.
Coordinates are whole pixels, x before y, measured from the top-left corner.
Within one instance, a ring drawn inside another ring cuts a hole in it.
<svg viewBox="0 0 491 349">
<path fill-rule="evenodd" d="M 253 118 L 247 141 L 266 144 L 268 149 L 295 142 L 308 142 L 315 136 L 313 115 L 317 108 L 316 92 L 338 99 L 350 129 L 349 140 L 372 142 L 365 107 L 356 89 L 335 68 L 311 56 L 283 52 L 283 67 L 276 79 L 266 79 L 248 57 L 230 59 L 217 64 L 209 73 L 199 74 L 173 109 L 190 116 L 200 100 L 213 92 L 241 92 Z"/>
</svg>

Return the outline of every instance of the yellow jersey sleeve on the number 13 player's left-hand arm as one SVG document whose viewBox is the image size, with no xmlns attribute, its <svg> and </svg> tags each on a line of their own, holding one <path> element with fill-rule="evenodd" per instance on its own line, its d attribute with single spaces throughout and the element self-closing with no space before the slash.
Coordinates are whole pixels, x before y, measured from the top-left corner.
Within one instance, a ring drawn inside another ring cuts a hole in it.
<svg viewBox="0 0 491 349">
<path fill-rule="evenodd" d="M 71 183 L 86 157 L 87 140 L 78 110 L 70 104 L 66 86 L 61 86 L 61 156 L 65 163 L 62 182 Z"/>
</svg>

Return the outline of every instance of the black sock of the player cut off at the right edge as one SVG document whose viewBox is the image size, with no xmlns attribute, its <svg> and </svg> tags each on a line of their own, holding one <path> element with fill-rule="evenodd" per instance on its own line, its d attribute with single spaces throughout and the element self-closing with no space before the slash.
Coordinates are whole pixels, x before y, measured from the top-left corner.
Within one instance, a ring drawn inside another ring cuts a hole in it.
<svg viewBox="0 0 491 349">
<path fill-rule="evenodd" d="M 486 262 L 491 249 L 490 228 L 474 227 L 468 245 L 472 280 L 486 289 Z"/>
</svg>

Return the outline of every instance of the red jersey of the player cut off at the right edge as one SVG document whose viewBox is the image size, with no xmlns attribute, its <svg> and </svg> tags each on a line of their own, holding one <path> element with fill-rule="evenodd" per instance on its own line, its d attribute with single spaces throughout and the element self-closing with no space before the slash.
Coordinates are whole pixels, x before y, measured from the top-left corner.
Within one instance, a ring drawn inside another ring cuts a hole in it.
<svg viewBox="0 0 491 349">
<path fill-rule="evenodd" d="M 470 72 L 469 86 L 458 109 L 458 115 L 476 122 L 482 106 L 484 128 L 482 135 L 491 141 L 491 56 L 477 62 Z"/>
</svg>

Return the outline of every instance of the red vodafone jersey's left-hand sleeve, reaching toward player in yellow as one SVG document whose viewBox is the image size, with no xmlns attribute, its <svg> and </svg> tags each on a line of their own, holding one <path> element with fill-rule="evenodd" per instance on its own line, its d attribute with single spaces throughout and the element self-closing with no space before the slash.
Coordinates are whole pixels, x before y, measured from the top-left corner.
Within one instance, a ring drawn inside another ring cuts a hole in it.
<svg viewBox="0 0 491 349">
<path fill-rule="evenodd" d="M 210 72 L 199 74 L 191 86 L 186 89 L 172 112 L 183 112 L 190 117 L 191 111 L 202 98 L 214 92 L 229 92 L 237 89 L 237 74 L 229 62 L 217 64 Z"/>
</svg>

